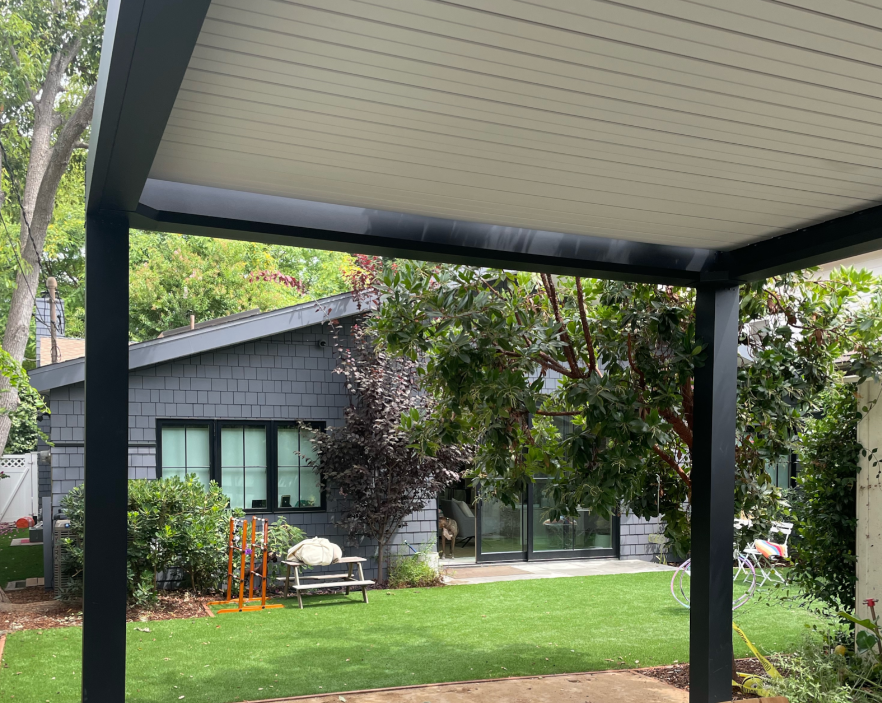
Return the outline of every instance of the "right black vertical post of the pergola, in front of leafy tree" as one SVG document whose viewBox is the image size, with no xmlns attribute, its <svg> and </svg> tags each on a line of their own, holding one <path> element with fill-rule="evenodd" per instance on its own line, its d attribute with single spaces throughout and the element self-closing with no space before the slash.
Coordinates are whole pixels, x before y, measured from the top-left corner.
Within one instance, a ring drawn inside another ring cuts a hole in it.
<svg viewBox="0 0 882 703">
<path fill-rule="evenodd" d="M 706 361 L 695 370 L 692 440 L 690 703 L 732 699 L 732 535 L 738 288 L 701 286 L 695 336 Z"/>
</svg>

